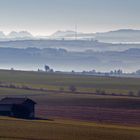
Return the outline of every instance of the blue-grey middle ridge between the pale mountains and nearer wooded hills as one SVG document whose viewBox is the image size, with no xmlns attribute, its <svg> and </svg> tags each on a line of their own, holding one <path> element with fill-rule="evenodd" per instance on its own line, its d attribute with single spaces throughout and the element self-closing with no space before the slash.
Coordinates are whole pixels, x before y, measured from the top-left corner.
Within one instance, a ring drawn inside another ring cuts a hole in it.
<svg viewBox="0 0 140 140">
<path fill-rule="evenodd" d="M 23 39 L 15 41 L 0 41 L 0 47 L 10 48 L 62 48 L 67 51 L 124 51 L 130 48 L 140 48 L 140 44 L 112 44 L 96 40 L 50 40 L 50 39 Z"/>
</svg>

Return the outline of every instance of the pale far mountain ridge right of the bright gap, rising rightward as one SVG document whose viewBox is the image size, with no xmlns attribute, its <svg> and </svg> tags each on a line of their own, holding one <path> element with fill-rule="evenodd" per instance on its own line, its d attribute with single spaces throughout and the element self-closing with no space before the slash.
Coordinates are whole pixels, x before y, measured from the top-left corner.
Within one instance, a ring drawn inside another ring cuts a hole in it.
<svg viewBox="0 0 140 140">
<path fill-rule="evenodd" d="M 76 33 L 74 31 L 57 31 L 51 35 L 51 37 L 67 39 L 76 37 L 78 39 L 95 39 L 101 42 L 110 43 L 138 43 L 140 42 L 140 30 L 120 29 L 103 33 Z"/>
</svg>

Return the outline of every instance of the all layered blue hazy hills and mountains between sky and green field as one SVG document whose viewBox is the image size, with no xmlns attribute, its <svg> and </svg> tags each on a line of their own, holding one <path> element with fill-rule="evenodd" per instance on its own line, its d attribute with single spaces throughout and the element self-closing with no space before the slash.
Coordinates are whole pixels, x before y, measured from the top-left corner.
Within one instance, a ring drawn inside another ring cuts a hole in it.
<svg viewBox="0 0 140 140">
<path fill-rule="evenodd" d="M 0 32 L 0 38 L 1 68 L 37 70 L 47 64 L 64 71 L 123 69 L 132 72 L 140 69 L 140 44 L 136 43 L 140 30 L 95 34 L 58 31 L 44 38 L 27 31 L 13 31 L 8 35 Z M 105 43 L 107 40 L 126 42 Z"/>
</svg>

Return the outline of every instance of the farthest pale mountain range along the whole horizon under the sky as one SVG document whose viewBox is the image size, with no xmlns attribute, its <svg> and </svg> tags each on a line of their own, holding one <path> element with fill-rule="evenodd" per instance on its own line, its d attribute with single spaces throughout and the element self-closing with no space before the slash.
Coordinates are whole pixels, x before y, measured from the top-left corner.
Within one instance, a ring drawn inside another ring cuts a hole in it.
<svg viewBox="0 0 140 140">
<path fill-rule="evenodd" d="M 50 36 L 34 36 L 28 31 L 12 31 L 8 35 L 0 32 L 0 41 L 29 39 L 59 39 L 59 40 L 98 40 L 105 43 L 140 43 L 140 30 L 120 29 L 103 33 L 81 33 L 75 31 L 57 31 Z"/>
</svg>

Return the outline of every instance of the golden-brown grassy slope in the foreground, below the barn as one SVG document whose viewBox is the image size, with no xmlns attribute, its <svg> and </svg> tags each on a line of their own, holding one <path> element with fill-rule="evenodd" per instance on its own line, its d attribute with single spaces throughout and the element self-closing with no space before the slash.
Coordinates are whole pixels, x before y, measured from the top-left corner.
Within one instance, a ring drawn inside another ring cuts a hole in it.
<svg viewBox="0 0 140 140">
<path fill-rule="evenodd" d="M 0 118 L 1 140 L 138 140 L 140 128 L 67 120 Z"/>
</svg>

